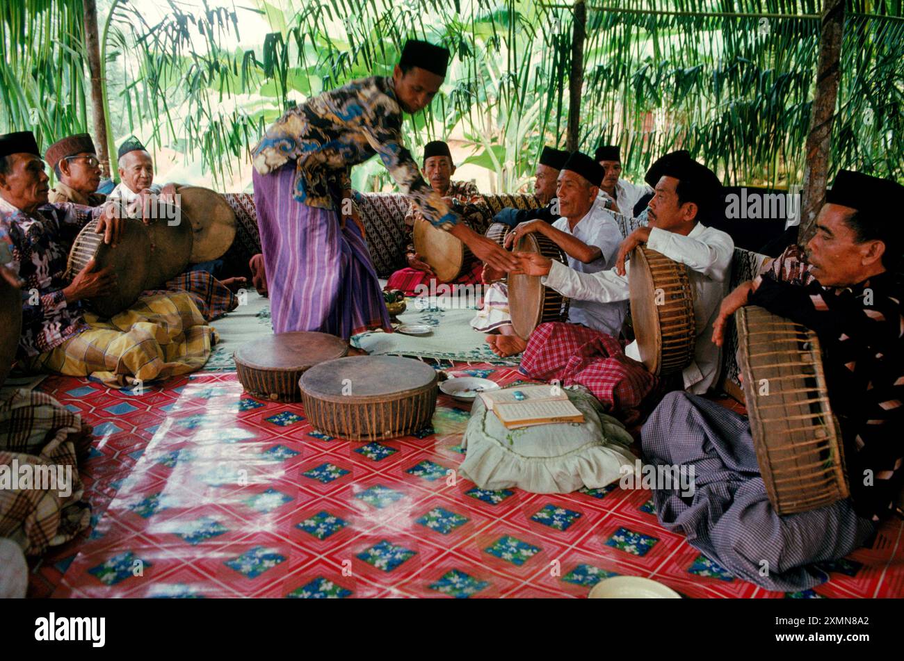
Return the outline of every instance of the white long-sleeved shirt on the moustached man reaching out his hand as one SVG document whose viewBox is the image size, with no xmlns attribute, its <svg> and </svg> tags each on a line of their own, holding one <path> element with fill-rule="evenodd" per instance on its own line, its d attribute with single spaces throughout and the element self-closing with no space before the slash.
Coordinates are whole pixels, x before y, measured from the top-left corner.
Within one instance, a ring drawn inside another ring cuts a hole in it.
<svg viewBox="0 0 904 661">
<path fill-rule="evenodd" d="M 719 306 L 728 293 L 731 276 L 731 257 L 734 241 L 720 229 L 697 224 L 686 237 L 653 228 L 646 247 L 688 267 L 688 279 L 693 289 L 693 313 L 697 331 L 694 358 L 683 369 L 684 388 L 702 395 L 714 386 L 719 377 L 721 350 L 712 343 L 712 324 L 719 314 Z M 579 301 L 611 303 L 629 298 L 626 275 L 616 270 L 582 274 L 558 262 L 552 262 L 550 273 L 541 279 L 564 296 Z M 640 360 L 636 340 L 625 353 Z"/>
</svg>

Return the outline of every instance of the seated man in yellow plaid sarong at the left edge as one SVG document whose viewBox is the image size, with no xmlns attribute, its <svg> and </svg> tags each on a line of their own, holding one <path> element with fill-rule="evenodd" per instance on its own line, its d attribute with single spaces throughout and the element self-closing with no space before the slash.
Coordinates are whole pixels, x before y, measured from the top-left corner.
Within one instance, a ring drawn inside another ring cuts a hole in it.
<svg viewBox="0 0 904 661">
<path fill-rule="evenodd" d="M 24 363 L 110 386 L 201 368 L 216 334 L 188 293 L 150 293 L 110 320 L 84 311 L 82 301 L 113 291 L 116 276 L 91 261 L 69 282 L 71 243 L 99 218 L 99 233 L 115 246 L 126 221 L 110 205 L 48 204 L 47 182 L 31 132 L 0 136 L 0 270 L 24 281 Z"/>
</svg>

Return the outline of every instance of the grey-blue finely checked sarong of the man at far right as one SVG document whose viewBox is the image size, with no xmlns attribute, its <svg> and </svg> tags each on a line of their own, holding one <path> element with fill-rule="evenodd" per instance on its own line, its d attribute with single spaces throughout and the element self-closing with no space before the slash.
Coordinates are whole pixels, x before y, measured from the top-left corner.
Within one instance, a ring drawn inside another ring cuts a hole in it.
<svg viewBox="0 0 904 661">
<path fill-rule="evenodd" d="M 692 489 L 686 482 L 656 485 L 662 525 L 766 590 L 808 590 L 827 581 L 817 563 L 843 558 L 875 534 L 875 525 L 857 516 L 850 498 L 777 514 L 760 476 L 748 419 L 711 400 L 669 393 L 644 424 L 641 446 L 655 466 L 693 470 Z"/>
</svg>

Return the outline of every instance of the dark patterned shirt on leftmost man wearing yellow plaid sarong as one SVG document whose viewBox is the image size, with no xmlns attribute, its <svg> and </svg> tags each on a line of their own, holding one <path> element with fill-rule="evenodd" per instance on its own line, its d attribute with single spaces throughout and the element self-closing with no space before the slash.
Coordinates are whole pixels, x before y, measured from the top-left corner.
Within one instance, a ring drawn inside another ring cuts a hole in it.
<svg viewBox="0 0 904 661">
<path fill-rule="evenodd" d="M 47 204 L 33 214 L 0 199 L 0 268 L 24 280 L 19 351 L 33 357 L 88 329 L 80 302 L 69 303 L 66 264 L 72 242 L 103 207 Z"/>
</svg>

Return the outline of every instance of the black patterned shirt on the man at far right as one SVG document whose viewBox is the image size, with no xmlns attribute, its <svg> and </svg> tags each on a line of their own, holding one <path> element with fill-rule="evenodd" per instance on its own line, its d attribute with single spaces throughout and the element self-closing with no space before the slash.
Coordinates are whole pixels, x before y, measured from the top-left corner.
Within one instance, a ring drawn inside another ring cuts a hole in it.
<svg viewBox="0 0 904 661">
<path fill-rule="evenodd" d="M 904 287 L 890 273 L 852 287 L 819 284 L 799 247 L 778 256 L 750 303 L 816 332 L 851 496 L 872 520 L 894 511 L 904 472 Z"/>
</svg>

